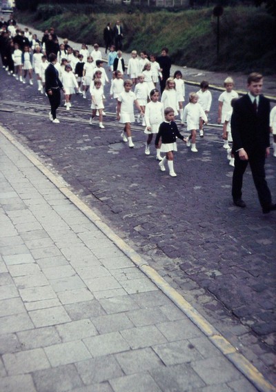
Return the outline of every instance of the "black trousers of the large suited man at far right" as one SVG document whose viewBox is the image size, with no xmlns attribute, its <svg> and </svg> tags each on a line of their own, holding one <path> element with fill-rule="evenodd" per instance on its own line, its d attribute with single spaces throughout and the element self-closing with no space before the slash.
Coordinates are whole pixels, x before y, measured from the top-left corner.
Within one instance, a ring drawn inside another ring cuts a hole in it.
<svg viewBox="0 0 276 392">
<path fill-rule="evenodd" d="M 248 161 L 242 161 L 242 159 L 239 159 L 239 153 L 235 153 L 235 168 L 232 182 L 233 200 L 242 198 L 242 180 L 249 163 L 259 197 L 259 203 L 263 208 L 266 208 L 271 203 L 271 193 L 266 182 L 266 173 L 264 170 L 266 160 L 265 151 L 258 150 L 254 154 L 251 153 L 248 155 L 248 158 Z"/>
</svg>

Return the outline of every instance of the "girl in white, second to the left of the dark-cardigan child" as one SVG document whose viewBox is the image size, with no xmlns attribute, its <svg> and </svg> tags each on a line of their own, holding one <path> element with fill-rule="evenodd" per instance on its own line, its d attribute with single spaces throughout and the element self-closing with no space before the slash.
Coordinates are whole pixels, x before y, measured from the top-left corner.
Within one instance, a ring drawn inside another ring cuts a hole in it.
<svg viewBox="0 0 276 392">
<path fill-rule="evenodd" d="M 120 123 L 125 124 L 124 130 L 121 133 L 123 141 L 128 141 L 128 147 L 133 148 L 135 145 L 132 142 L 130 129 L 130 124 L 135 121 L 133 104 L 135 104 L 141 115 L 143 115 L 143 110 L 137 101 L 135 93 L 131 91 L 131 88 L 132 80 L 126 79 L 124 81 L 124 91 L 121 92 L 118 97 L 117 120 L 119 120 Z"/>
</svg>

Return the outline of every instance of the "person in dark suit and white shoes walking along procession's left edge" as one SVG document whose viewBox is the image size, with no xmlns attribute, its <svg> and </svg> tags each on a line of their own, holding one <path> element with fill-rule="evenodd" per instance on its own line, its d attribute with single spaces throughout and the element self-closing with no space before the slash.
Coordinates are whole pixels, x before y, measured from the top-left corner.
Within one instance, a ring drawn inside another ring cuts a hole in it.
<svg viewBox="0 0 276 392">
<path fill-rule="evenodd" d="M 65 90 L 61 81 L 59 80 L 59 72 L 57 68 L 55 68 L 55 63 L 57 63 L 57 55 L 55 55 L 55 53 L 50 53 L 49 61 L 50 64 L 45 71 L 45 91 L 47 92 L 51 106 L 49 117 L 52 123 L 59 124 L 59 120 L 57 119 L 57 108 L 61 102 L 60 90 L 62 89 L 63 92 L 65 92 Z"/>
</svg>

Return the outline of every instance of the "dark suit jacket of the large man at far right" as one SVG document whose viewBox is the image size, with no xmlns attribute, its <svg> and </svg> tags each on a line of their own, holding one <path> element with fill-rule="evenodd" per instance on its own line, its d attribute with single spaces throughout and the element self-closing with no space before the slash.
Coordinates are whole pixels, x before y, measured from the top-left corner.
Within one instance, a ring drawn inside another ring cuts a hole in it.
<svg viewBox="0 0 276 392">
<path fill-rule="evenodd" d="M 257 113 L 248 94 L 237 99 L 231 117 L 233 151 L 244 148 L 250 154 L 270 146 L 269 113 L 270 101 L 264 95 L 259 95 Z"/>
</svg>

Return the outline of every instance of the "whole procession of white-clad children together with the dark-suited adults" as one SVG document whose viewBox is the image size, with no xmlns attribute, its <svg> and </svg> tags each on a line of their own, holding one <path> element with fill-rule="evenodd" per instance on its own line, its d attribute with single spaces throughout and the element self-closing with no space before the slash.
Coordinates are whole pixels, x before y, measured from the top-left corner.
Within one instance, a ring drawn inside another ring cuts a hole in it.
<svg viewBox="0 0 276 392">
<path fill-rule="evenodd" d="M 146 51 L 142 51 L 138 57 L 137 51 L 132 50 L 126 69 L 122 52 L 120 49 L 117 50 L 121 45 L 118 36 L 123 37 L 123 30 L 118 22 L 117 35 L 115 35 L 117 41 L 115 45 L 111 40 L 106 41 L 108 43 L 106 52 L 109 49 L 110 97 L 117 100 L 117 120 L 124 124 L 121 137 L 130 148 L 135 146 L 132 141 L 131 124 L 135 121 L 134 106 L 136 106 L 139 110 L 136 121 L 145 127 L 144 133 L 147 137 L 145 154 L 150 155 L 150 144 L 155 137 L 159 169 L 165 171 L 168 164 L 170 176 L 176 177 L 173 166 L 173 152 L 177 150 L 176 139 L 181 139 L 190 146 L 193 153 L 197 153 L 197 132 L 199 131 L 199 137 L 204 137 L 204 124 L 208 124 L 208 113 L 212 104 L 208 81 L 202 81 L 199 90 L 190 93 L 188 104 L 184 106 L 184 80 L 180 70 L 170 77 L 171 60 L 168 56 L 168 48 L 162 48 L 159 57 L 154 54 L 148 56 Z M 11 25 L 12 23 L 9 22 L 8 26 Z M 110 29 L 110 37 L 113 37 L 114 30 L 111 29 L 110 23 L 106 28 Z M 28 29 L 22 32 L 15 28 L 14 37 L 10 30 L 3 28 L 1 31 L 1 55 L 2 39 L 4 39 L 5 43 L 9 41 L 10 48 L 13 47 L 11 59 L 14 65 L 12 68 L 11 61 L 7 63 L 5 57 L 7 51 L 4 50 L 3 68 L 23 83 L 26 83 L 28 76 L 30 84 L 32 84 L 34 70 L 38 89 L 49 98 L 51 106 L 49 117 L 52 123 L 59 123 L 57 108 L 61 103 L 61 90 L 64 93 L 67 110 L 70 110 L 71 98 L 75 92 L 79 92 L 86 99 L 89 90 L 92 99 L 89 124 L 95 124 L 95 118 L 99 116 L 99 128 L 105 128 L 103 126 L 106 99 L 104 86 L 109 83 L 109 77 L 103 67 L 101 50 L 97 43 L 90 53 L 84 43 L 80 50 L 73 50 L 68 45 L 67 39 L 59 44 L 52 28 L 44 32 L 41 42 L 34 35 L 30 39 Z M 23 40 L 16 39 L 17 35 Z M 128 76 L 124 79 L 126 73 Z M 268 99 L 260 95 L 262 81 L 262 75 L 251 74 L 248 77 L 248 95 L 239 98 L 237 92 L 233 90 L 233 79 L 226 78 L 225 91 L 219 96 L 217 121 L 224 126 L 224 148 L 228 152 L 230 165 L 234 166 L 234 204 L 242 208 L 246 206 L 242 200 L 242 177 L 249 162 L 263 212 L 268 213 L 276 209 L 276 204 L 271 202 L 265 179 L 264 161 L 269 153 L 270 131 L 273 132 L 274 156 L 276 156 L 276 109 L 273 108 L 270 113 Z M 157 89 L 157 83 L 160 90 Z M 179 116 L 182 125 L 187 124 L 188 137 L 179 133 L 175 116 Z M 232 141 L 233 146 L 230 146 L 229 142 Z M 165 153 L 164 157 L 161 153 Z"/>
</svg>

